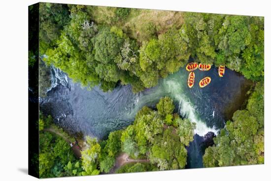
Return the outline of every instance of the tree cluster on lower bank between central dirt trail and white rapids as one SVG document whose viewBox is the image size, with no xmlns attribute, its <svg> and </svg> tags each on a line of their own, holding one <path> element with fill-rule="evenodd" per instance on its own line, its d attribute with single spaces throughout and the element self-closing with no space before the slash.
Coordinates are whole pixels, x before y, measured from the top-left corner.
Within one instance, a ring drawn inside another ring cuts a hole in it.
<svg viewBox="0 0 271 181">
<path fill-rule="evenodd" d="M 177 114 L 173 115 L 174 105 L 169 97 L 162 98 L 157 109 L 143 107 L 137 112 L 134 125 L 123 131 L 122 151 L 134 158 L 148 158 L 160 170 L 184 168 L 187 158 L 185 145 L 193 141 L 193 135 L 192 139 L 189 136 L 195 125 L 190 121 L 183 124 L 184 120 Z M 176 126 L 167 126 L 165 115 L 170 115 Z M 186 131 L 182 134 L 185 136 L 180 138 L 176 130 L 184 126 Z"/>
</svg>

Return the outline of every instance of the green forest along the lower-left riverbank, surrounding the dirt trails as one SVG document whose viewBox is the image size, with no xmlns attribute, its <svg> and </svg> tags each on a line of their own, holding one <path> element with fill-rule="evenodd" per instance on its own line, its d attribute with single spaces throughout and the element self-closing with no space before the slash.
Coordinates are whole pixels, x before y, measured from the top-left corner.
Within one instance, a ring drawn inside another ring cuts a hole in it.
<svg viewBox="0 0 271 181">
<path fill-rule="evenodd" d="M 50 115 L 41 114 L 38 123 L 40 177 L 109 173 L 121 154 L 127 154 L 135 161 L 117 168 L 116 173 L 185 168 L 185 146 L 193 141 L 196 125 L 173 112 L 173 101 L 169 97 L 161 98 L 157 109 L 143 107 L 137 112 L 134 124 L 111 132 L 106 140 L 87 136 L 81 159 L 76 159 L 67 140 L 50 129 L 67 138 L 69 135 L 53 124 Z"/>
</svg>

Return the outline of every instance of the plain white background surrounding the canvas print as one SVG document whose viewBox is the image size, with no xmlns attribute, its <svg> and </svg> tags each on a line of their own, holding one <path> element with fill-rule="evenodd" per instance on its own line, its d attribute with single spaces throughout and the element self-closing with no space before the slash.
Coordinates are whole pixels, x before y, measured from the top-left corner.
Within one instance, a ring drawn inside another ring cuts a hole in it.
<svg viewBox="0 0 271 181">
<path fill-rule="evenodd" d="M 48 2 L 265 16 L 265 165 L 188 169 L 65 178 L 67 181 L 264 181 L 270 178 L 270 4 L 268 0 L 44 0 Z M 35 180 L 28 167 L 28 5 L 37 0 L 6 0 L 0 5 L 0 180 Z M 269 51 L 268 51 L 269 50 Z M 62 179 L 48 179 L 63 180 Z"/>
</svg>

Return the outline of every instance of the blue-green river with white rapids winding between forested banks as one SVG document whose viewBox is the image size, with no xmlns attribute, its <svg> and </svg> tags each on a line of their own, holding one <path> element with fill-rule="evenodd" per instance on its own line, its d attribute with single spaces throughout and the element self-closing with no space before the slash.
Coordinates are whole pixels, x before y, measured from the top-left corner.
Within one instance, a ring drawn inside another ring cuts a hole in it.
<svg viewBox="0 0 271 181">
<path fill-rule="evenodd" d="M 240 109 L 246 99 L 251 82 L 237 72 L 226 68 L 224 77 L 219 77 L 217 68 L 210 71 L 195 71 L 195 85 L 187 86 L 189 72 L 178 72 L 160 79 L 156 87 L 133 94 L 130 85 L 117 86 L 112 92 L 92 90 L 73 83 L 68 76 L 52 67 L 52 87 L 46 98 L 40 98 L 40 110 L 51 114 L 55 122 L 71 134 L 82 132 L 99 139 L 109 132 L 125 128 L 133 123 L 136 112 L 143 106 L 155 108 L 160 98 L 169 96 L 174 100 L 175 111 L 196 123 L 194 141 L 190 143 L 186 168 L 203 167 L 203 136 L 208 132 L 217 134 Z M 204 76 L 211 83 L 199 87 Z"/>
</svg>

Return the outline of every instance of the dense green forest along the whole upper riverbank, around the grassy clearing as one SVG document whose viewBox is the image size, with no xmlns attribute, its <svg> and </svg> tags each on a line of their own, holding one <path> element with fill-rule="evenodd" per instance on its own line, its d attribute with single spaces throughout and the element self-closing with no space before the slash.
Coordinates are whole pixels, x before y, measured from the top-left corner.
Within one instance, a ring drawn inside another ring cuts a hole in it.
<svg viewBox="0 0 271 181">
<path fill-rule="evenodd" d="M 144 32 L 150 31 L 149 36 L 138 44 L 125 29 L 94 23 L 96 9 L 51 3 L 41 3 L 40 8 L 41 53 L 48 55 L 45 61 L 83 86 L 100 85 L 108 91 L 118 82 L 130 83 L 138 92 L 178 71 L 189 57 L 226 65 L 252 80 L 263 79 L 261 17 L 183 13 L 181 27 L 172 26 L 159 36 L 155 25 L 146 22 Z M 129 21 L 130 10 L 115 8 L 114 21 Z"/>
</svg>

